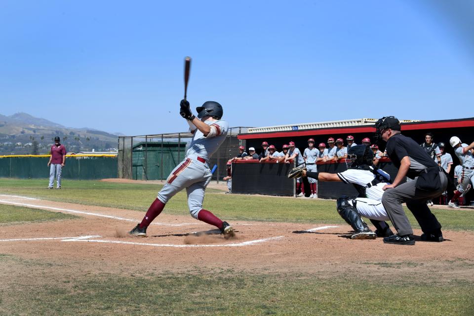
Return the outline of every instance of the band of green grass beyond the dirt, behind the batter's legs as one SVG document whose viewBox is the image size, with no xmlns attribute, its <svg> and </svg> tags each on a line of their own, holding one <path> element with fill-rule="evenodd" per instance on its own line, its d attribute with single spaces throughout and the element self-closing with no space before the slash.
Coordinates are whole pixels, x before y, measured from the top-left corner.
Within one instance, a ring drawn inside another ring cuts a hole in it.
<svg viewBox="0 0 474 316">
<path fill-rule="evenodd" d="M 0 179 L 0 194 L 39 197 L 86 205 L 98 205 L 146 211 L 161 185 L 124 184 L 85 180 L 64 180 L 63 189 L 46 190 L 46 180 Z M 206 190 L 204 208 L 225 220 L 253 220 L 301 223 L 345 223 L 332 200 L 304 198 L 223 195 L 220 190 Z M 414 228 L 419 228 L 405 208 Z M 168 214 L 188 214 L 186 192 L 173 197 L 165 207 Z M 474 211 L 470 209 L 433 209 L 444 229 L 474 231 Z"/>
</svg>

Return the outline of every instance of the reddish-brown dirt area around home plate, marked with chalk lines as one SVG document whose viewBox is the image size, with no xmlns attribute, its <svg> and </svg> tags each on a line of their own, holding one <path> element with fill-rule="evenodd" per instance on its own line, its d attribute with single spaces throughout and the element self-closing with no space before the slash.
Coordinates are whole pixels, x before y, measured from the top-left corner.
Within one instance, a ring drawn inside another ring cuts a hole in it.
<svg viewBox="0 0 474 316">
<path fill-rule="evenodd" d="M 348 239 L 347 225 L 235 222 L 236 238 L 225 240 L 211 226 L 190 216 L 167 215 L 165 210 L 149 227 L 149 237 L 128 237 L 126 232 L 143 212 L 13 196 L 0 200 L 80 216 L 77 220 L 2 227 L 0 253 L 52 260 L 65 264 L 64 269 L 123 271 L 126 267 L 132 273 L 144 269 L 184 271 L 195 266 L 314 272 L 363 267 L 377 274 L 377 262 L 413 262 L 424 265 L 426 271 L 430 267 L 437 270 L 439 261 L 474 262 L 474 234 L 470 232 L 444 231 L 444 242 L 417 238 L 414 246 L 399 246 L 384 244 L 381 238 Z M 472 278 L 473 265 L 443 271 L 442 277 L 456 274 Z"/>
</svg>

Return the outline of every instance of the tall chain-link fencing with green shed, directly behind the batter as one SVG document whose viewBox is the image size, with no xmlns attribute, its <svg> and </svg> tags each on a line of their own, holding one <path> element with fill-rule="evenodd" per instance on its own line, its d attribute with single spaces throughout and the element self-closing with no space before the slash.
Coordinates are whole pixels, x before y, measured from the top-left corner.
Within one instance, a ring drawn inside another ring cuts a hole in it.
<svg viewBox="0 0 474 316">
<path fill-rule="evenodd" d="M 238 146 L 245 146 L 237 135 L 249 127 L 229 128 L 225 141 L 211 157 L 209 165 L 217 164 L 213 179 L 226 176 L 229 158 L 237 156 Z M 183 160 L 193 135 L 189 132 L 118 137 L 118 177 L 133 180 L 165 180 Z"/>
</svg>

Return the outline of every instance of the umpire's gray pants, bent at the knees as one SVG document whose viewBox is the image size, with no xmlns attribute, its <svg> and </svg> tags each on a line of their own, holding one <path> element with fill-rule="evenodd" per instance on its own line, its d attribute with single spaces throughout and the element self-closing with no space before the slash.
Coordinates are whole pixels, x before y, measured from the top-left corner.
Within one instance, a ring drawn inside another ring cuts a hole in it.
<svg viewBox="0 0 474 316">
<path fill-rule="evenodd" d="M 439 172 L 441 180 L 441 189 L 437 191 L 423 191 L 416 189 L 416 181 L 409 181 L 400 184 L 396 188 L 385 191 L 382 196 L 382 204 L 384 204 L 387 215 L 394 224 L 398 235 L 413 234 L 408 217 L 403 211 L 402 203 L 406 203 L 408 209 L 413 213 L 416 220 L 420 224 L 423 233 L 431 233 L 441 228 L 435 215 L 426 205 L 426 201 L 435 197 L 439 197 L 448 185 L 448 179 L 444 172 Z"/>
</svg>

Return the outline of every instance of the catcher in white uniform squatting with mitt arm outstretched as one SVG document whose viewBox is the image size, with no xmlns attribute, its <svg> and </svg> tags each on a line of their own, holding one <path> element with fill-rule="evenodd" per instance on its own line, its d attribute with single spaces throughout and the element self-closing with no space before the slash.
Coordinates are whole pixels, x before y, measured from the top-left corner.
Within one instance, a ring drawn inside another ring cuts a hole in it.
<svg viewBox="0 0 474 316">
<path fill-rule="evenodd" d="M 390 175 L 372 164 L 374 154 L 369 146 L 356 145 L 349 149 L 346 158 L 347 170 L 340 173 L 312 172 L 305 167 L 296 167 L 288 173 L 288 178 L 311 177 L 318 181 L 338 181 L 352 183 L 359 197 L 342 196 L 337 199 L 339 215 L 356 231 L 351 239 L 375 239 L 393 235 L 385 222 L 389 216 L 382 204 L 382 188 L 390 184 Z M 372 232 L 361 216 L 371 220 L 377 230 Z"/>
</svg>

